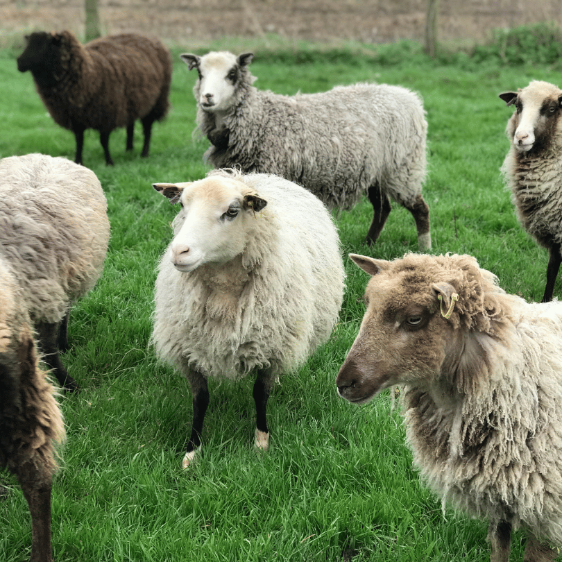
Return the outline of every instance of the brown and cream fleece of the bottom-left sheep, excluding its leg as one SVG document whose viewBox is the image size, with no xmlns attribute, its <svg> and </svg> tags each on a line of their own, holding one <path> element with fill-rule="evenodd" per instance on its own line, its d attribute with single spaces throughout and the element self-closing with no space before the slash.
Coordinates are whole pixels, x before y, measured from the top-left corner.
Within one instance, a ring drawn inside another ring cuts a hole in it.
<svg viewBox="0 0 562 562">
<path fill-rule="evenodd" d="M 17 473 L 31 462 L 44 476 L 56 470 L 53 443 L 65 428 L 53 386 L 39 368 L 24 291 L 0 255 L 0 467 Z"/>
</svg>

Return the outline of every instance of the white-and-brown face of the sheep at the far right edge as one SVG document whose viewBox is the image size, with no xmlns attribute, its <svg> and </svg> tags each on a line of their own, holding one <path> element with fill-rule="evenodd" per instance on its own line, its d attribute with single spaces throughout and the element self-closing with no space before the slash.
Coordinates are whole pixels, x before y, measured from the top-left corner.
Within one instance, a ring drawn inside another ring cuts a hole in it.
<svg viewBox="0 0 562 562">
<path fill-rule="evenodd" d="M 547 82 L 533 80 L 518 92 L 504 92 L 500 98 L 515 105 L 506 135 L 519 153 L 548 146 L 556 134 L 562 112 L 562 90 Z"/>
</svg>

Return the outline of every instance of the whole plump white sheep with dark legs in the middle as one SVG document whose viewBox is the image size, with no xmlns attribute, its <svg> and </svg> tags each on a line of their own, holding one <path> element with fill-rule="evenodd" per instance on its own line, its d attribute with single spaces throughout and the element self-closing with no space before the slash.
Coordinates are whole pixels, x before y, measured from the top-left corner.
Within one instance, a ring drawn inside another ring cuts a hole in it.
<svg viewBox="0 0 562 562">
<path fill-rule="evenodd" d="M 327 341 L 343 298 L 339 238 L 325 206 L 266 174 L 215 171 L 154 184 L 180 203 L 155 285 L 152 341 L 185 374 L 193 426 L 182 465 L 201 445 L 207 377 L 255 373 L 255 446 L 266 450 L 273 382 Z"/>
</svg>

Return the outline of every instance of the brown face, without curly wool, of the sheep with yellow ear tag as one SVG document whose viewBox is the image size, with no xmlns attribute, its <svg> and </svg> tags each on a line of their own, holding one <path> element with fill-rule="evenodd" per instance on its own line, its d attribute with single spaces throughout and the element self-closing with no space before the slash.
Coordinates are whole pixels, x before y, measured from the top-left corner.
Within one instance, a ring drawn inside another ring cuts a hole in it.
<svg viewBox="0 0 562 562">
<path fill-rule="evenodd" d="M 454 330 L 441 316 L 437 298 L 449 307 L 454 287 L 430 273 L 391 272 L 391 262 L 350 257 L 373 278 L 359 334 L 337 375 L 339 394 L 360 404 L 394 384 L 429 386 L 454 346 Z"/>
</svg>

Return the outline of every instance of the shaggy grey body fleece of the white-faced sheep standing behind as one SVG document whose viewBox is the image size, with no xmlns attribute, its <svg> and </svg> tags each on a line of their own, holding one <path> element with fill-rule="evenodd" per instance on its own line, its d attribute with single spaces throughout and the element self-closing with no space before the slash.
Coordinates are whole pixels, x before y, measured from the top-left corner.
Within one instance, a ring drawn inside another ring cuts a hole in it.
<svg viewBox="0 0 562 562">
<path fill-rule="evenodd" d="M 394 201 L 414 205 L 426 169 L 427 121 L 419 96 L 404 87 L 356 84 L 282 96 L 241 80 L 234 108 L 221 116 L 228 146 L 211 146 L 215 168 L 274 173 L 304 185 L 329 208 L 350 209 L 384 180 Z M 194 94 L 198 99 L 198 82 Z M 205 135 L 214 117 L 198 106 Z"/>
</svg>

